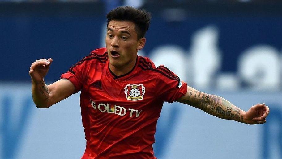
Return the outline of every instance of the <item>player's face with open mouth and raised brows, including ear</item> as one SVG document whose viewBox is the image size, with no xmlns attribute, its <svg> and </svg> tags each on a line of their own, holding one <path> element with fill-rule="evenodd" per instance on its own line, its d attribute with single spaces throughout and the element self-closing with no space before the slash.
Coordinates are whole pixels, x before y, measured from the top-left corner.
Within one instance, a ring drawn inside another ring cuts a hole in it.
<svg viewBox="0 0 282 159">
<path fill-rule="evenodd" d="M 109 22 L 105 41 L 110 65 L 123 68 L 135 63 L 137 51 L 144 47 L 146 41 L 145 38 L 137 37 L 134 22 L 117 20 Z"/>
</svg>

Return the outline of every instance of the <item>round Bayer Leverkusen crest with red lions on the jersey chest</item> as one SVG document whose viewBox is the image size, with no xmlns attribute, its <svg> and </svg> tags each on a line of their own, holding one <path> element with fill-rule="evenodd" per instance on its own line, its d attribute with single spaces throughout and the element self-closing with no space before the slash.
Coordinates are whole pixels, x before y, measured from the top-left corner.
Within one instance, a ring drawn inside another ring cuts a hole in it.
<svg viewBox="0 0 282 159">
<path fill-rule="evenodd" d="M 143 84 L 127 84 L 124 88 L 126 100 L 143 100 L 145 87 Z"/>
</svg>

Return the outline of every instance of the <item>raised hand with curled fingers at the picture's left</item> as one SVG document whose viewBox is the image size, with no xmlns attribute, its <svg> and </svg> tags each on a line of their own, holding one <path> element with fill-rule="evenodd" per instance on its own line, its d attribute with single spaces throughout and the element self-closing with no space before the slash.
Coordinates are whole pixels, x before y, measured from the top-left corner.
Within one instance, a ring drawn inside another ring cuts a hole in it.
<svg viewBox="0 0 282 159">
<path fill-rule="evenodd" d="M 36 60 L 34 63 L 31 64 L 29 75 L 32 79 L 32 82 L 39 83 L 43 81 L 43 78 L 49 71 L 49 67 L 52 63 L 53 59 L 40 59 Z"/>
</svg>

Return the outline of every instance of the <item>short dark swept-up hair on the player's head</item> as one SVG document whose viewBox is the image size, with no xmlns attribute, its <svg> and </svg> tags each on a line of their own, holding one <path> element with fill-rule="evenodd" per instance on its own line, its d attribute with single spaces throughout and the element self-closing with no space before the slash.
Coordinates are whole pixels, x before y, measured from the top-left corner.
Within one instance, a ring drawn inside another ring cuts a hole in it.
<svg viewBox="0 0 282 159">
<path fill-rule="evenodd" d="M 111 20 L 131 21 L 135 23 L 138 39 L 145 37 L 149 29 L 151 13 L 131 6 L 117 7 L 107 14 L 108 25 Z"/>
</svg>

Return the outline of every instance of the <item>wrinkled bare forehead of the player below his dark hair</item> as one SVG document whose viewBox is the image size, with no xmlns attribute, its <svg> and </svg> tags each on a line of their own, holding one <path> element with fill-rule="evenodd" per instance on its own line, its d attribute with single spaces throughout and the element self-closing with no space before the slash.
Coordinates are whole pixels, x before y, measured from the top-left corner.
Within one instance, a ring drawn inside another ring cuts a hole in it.
<svg viewBox="0 0 282 159">
<path fill-rule="evenodd" d="M 136 32 L 135 23 L 131 21 L 111 20 L 107 28 L 111 28 L 113 30 L 125 29 L 130 32 Z"/>
</svg>

